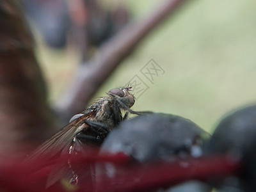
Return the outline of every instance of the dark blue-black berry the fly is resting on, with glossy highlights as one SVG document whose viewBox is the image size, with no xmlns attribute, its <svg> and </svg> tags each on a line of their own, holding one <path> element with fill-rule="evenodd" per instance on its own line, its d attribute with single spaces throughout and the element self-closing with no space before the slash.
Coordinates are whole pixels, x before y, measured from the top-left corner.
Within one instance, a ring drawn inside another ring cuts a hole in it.
<svg viewBox="0 0 256 192">
<path fill-rule="evenodd" d="M 123 152 L 140 162 L 173 157 L 202 156 L 210 135 L 181 116 L 164 113 L 141 115 L 120 124 L 102 145 L 102 152 Z"/>
</svg>

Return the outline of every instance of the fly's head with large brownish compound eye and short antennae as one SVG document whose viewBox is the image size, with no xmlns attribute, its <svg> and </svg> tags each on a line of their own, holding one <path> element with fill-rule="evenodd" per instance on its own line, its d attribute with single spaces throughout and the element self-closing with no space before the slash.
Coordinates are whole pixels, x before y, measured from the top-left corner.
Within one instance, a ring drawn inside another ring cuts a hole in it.
<svg viewBox="0 0 256 192">
<path fill-rule="evenodd" d="M 134 96 L 129 93 L 131 90 L 132 87 L 113 88 L 108 92 L 108 95 L 117 100 L 122 108 L 125 106 L 131 108 L 134 104 Z"/>
</svg>

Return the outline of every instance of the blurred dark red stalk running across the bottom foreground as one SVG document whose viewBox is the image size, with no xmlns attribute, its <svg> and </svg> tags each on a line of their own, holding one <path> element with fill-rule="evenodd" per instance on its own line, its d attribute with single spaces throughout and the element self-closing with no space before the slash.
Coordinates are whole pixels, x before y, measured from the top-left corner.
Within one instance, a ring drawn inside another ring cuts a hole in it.
<svg viewBox="0 0 256 192">
<path fill-rule="evenodd" d="M 223 178 L 235 175 L 239 161 L 230 156 L 209 156 L 198 159 L 182 159 L 172 163 L 158 161 L 155 163 L 137 163 L 124 154 L 102 154 L 95 152 L 86 156 L 72 157 L 76 168 L 94 166 L 96 182 L 92 183 L 92 175 L 88 172 L 79 175 L 78 191 L 147 191 L 148 189 L 163 188 L 187 180 L 204 180 Z M 0 164 L 0 186 L 8 191 L 45 191 L 45 180 L 49 173 L 58 171 L 60 164 L 67 162 L 67 156 L 54 161 L 31 161 L 29 164 L 12 163 Z M 110 166 L 109 166 L 110 165 Z M 109 175 L 109 172 L 111 174 Z M 63 175 L 64 176 L 64 175 Z M 63 191 L 65 186 L 56 184 L 48 191 Z"/>
</svg>

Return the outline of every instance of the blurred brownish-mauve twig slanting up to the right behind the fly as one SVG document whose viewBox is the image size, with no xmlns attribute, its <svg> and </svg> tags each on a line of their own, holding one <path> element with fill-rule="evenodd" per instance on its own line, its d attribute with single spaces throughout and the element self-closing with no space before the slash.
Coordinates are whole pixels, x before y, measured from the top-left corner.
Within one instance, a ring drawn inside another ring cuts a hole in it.
<svg viewBox="0 0 256 192">
<path fill-rule="evenodd" d="M 171 15 L 186 0 L 164 0 L 147 17 L 132 22 L 118 35 L 102 45 L 89 65 L 79 66 L 70 88 L 56 104 L 56 111 L 64 118 L 83 111 L 85 104 L 140 41 Z"/>
</svg>

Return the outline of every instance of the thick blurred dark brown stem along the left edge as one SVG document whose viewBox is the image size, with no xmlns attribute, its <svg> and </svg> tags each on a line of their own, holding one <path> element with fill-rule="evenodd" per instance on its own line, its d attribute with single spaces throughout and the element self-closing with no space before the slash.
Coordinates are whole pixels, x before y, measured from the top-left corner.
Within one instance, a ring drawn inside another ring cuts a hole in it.
<svg viewBox="0 0 256 192">
<path fill-rule="evenodd" d="M 54 130 L 33 40 L 17 1 L 0 3 L 0 154 L 37 147 Z"/>
</svg>

